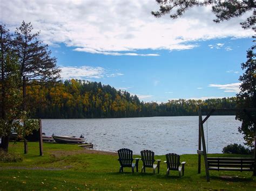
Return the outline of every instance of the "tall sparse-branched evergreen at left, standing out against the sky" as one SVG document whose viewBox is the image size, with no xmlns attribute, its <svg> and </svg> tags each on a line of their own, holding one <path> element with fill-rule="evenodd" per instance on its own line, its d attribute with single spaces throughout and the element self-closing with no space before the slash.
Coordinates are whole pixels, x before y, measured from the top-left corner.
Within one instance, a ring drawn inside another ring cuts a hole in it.
<svg viewBox="0 0 256 191">
<path fill-rule="evenodd" d="M 12 44 L 18 56 L 20 73 L 23 80 L 24 109 L 26 108 L 26 83 L 46 83 L 59 78 L 60 70 L 56 58 L 51 57 L 48 45 L 38 40 L 40 32 L 32 33 L 31 23 L 22 22 L 16 29 Z"/>
</svg>

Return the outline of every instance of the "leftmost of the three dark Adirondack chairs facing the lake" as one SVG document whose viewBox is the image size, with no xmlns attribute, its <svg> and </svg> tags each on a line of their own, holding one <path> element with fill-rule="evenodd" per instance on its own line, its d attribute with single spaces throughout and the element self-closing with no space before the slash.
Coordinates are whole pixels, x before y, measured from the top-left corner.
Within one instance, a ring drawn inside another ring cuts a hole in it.
<svg viewBox="0 0 256 191">
<path fill-rule="evenodd" d="M 134 173 L 134 167 L 136 167 L 136 172 L 138 172 L 139 167 L 139 158 L 132 158 L 132 150 L 128 148 L 121 148 L 117 151 L 118 161 L 120 163 L 119 172 L 124 172 L 124 167 L 131 167 L 132 173 Z M 133 160 L 136 160 L 135 163 L 132 163 Z"/>
</svg>

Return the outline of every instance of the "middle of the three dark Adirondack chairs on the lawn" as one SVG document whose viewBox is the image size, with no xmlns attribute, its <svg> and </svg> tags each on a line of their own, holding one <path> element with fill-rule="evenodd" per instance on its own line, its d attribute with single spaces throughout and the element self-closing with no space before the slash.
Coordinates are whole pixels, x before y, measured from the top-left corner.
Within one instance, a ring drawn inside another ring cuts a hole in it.
<svg viewBox="0 0 256 191">
<path fill-rule="evenodd" d="M 141 160 L 143 162 L 142 172 L 146 172 L 146 167 L 149 167 L 153 168 L 153 173 L 156 173 L 157 168 L 157 173 L 159 174 L 161 160 L 154 160 L 154 152 L 150 150 L 143 150 L 140 151 L 140 154 L 142 155 Z M 154 164 L 155 161 L 157 161 L 157 164 Z"/>
</svg>

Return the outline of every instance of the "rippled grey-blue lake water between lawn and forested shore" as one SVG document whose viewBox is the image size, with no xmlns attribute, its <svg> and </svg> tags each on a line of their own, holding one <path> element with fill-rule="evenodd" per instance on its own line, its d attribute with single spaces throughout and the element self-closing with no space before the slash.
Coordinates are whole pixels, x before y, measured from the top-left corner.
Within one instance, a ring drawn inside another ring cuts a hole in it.
<svg viewBox="0 0 256 191">
<path fill-rule="evenodd" d="M 235 116 L 211 116 L 204 124 L 205 138 L 208 126 L 208 153 L 221 153 L 231 143 L 243 143 Z M 43 119 L 46 135 L 85 135 L 93 149 L 114 151 L 130 148 L 134 154 L 144 149 L 156 154 L 174 152 L 197 153 L 198 116 L 140 117 L 109 119 Z M 206 145 L 207 146 L 207 145 Z"/>
</svg>

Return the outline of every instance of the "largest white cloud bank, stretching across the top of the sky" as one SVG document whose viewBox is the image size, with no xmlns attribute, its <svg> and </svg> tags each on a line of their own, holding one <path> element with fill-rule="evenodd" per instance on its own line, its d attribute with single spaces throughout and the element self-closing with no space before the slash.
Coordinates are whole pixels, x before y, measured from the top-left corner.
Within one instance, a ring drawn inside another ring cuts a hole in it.
<svg viewBox="0 0 256 191">
<path fill-rule="evenodd" d="M 41 40 L 47 44 L 64 43 L 76 51 L 94 54 L 157 56 L 157 49 L 191 49 L 198 46 L 198 40 L 254 34 L 239 25 L 251 13 L 215 24 L 210 6 L 192 8 L 176 20 L 168 15 L 154 18 L 150 12 L 158 9 L 152 0 L 3 0 L 0 4 L 1 22 L 11 31 L 25 20 L 35 31 L 41 30 Z M 151 52 L 137 52 L 142 49 Z"/>
</svg>

